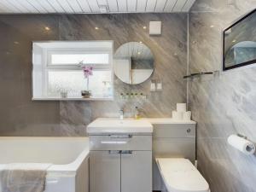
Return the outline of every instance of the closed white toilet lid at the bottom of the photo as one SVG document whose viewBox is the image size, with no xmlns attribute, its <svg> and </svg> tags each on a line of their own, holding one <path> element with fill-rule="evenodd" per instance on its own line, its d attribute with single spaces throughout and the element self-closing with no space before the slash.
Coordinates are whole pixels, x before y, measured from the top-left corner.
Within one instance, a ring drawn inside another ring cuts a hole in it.
<svg viewBox="0 0 256 192">
<path fill-rule="evenodd" d="M 187 159 L 157 158 L 160 174 L 169 192 L 209 192 L 201 173 Z"/>
</svg>

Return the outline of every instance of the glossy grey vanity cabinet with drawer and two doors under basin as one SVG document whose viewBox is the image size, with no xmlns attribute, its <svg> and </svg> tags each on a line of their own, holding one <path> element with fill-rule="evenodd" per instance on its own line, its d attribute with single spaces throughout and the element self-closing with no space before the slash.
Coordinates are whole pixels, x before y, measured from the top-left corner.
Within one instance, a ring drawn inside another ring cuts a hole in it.
<svg viewBox="0 0 256 192">
<path fill-rule="evenodd" d="M 90 192 L 131 191 L 152 191 L 152 136 L 90 136 Z"/>
</svg>

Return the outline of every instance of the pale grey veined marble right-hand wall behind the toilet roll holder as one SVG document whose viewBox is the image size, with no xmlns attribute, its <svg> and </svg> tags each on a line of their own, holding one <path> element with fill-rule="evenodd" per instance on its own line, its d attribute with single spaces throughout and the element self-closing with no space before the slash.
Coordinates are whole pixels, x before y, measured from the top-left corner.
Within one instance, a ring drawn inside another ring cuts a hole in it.
<svg viewBox="0 0 256 192">
<path fill-rule="evenodd" d="M 220 70 L 222 29 L 255 8 L 255 0 L 197 0 L 189 14 L 189 71 Z M 256 191 L 256 156 L 226 142 L 236 133 L 256 142 L 255 73 L 244 67 L 189 81 L 199 169 L 212 192 Z"/>
</svg>

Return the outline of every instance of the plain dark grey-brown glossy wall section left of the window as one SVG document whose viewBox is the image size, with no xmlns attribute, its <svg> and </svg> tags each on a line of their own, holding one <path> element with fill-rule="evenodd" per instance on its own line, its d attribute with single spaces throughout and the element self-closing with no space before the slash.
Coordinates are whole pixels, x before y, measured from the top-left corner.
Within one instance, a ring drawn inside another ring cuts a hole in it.
<svg viewBox="0 0 256 192">
<path fill-rule="evenodd" d="M 50 136 L 59 126 L 58 102 L 32 102 L 32 41 L 58 39 L 57 26 L 55 16 L 0 16 L 1 136 Z"/>
</svg>

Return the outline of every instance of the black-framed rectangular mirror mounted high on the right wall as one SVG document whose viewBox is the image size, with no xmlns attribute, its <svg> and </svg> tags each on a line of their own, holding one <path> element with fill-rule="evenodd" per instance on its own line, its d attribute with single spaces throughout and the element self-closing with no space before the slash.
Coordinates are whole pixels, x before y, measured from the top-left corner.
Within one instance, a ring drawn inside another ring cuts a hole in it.
<svg viewBox="0 0 256 192">
<path fill-rule="evenodd" d="M 256 63 L 256 10 L 224 30 L 224 70 Z"/>
</svg>

